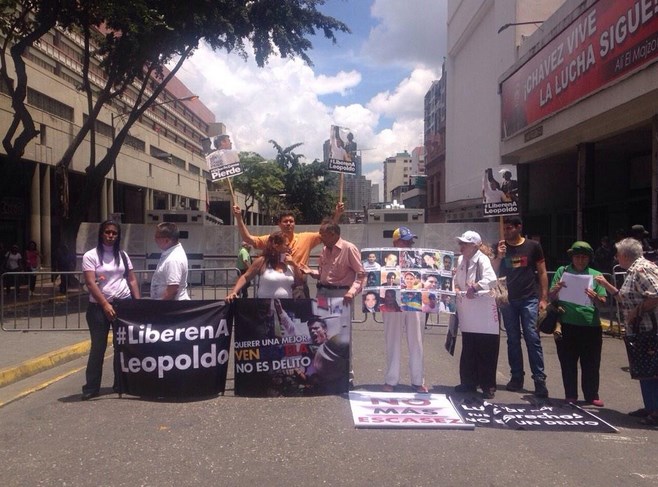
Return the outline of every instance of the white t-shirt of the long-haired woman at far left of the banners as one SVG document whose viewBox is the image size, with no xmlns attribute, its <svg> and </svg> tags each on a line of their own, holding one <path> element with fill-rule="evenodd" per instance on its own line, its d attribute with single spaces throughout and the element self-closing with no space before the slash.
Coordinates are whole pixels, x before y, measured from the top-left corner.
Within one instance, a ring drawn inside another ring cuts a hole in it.
<svg viewBox="0 0 658 487">
<path fill-rule="evenodd" d="M 85 252 L 82 256 L 82 270 L 94 271 L 96 276 L 96 283 L 100 288 L 103 296 L 110 303 L 115 299 L 128 299 L 130 298 L 130 287 L 128 281 L 124 277 L 126 268 L 123 265 L 123 259 L 119 256 L 119 262 L 115 262 L 112 247 L 103 246 L 103 261 L 98 258 L 98 251 L 91 249 Z M 132 269 L 133 265 L 130 261 L 128 254 L 125 254 L 128 269 Z M 94 297 L 89 294 L 89 301 L 97 303 Z"/>
</svg>

